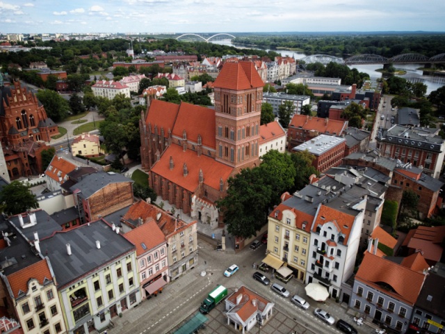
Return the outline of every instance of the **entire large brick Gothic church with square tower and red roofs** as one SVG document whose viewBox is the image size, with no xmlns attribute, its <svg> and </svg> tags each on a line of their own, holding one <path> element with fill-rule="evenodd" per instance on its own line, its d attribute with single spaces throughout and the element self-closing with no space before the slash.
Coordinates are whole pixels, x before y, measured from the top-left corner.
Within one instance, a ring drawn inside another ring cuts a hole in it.
<svg viewBox="0 0 445 334">
<path fill-rule="evenodd" d="M 227 180 L 259 164 L 264 83 L 253 63 L 240 61 L 225 63 L 213 86 L 215 109 L 152 100 L 140 121 L 140 156 L 158 196 L 217 228 Z"/>
</svg>

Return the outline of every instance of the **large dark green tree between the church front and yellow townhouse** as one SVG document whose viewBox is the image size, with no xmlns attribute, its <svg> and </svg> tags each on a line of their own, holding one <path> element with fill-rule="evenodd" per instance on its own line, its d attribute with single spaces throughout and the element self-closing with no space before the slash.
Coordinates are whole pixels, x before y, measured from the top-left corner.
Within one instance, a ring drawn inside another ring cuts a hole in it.
<svg viewBox="0 0 445 334">
<path fill-rule="evenodd" d="M 216 202 L 227 231 L 236 237 L 252 237 L 267 221 L 272 188 L 262 181 L 259 168 L 242 169 L 228 184 L 227 196 Z"/>
</svg>

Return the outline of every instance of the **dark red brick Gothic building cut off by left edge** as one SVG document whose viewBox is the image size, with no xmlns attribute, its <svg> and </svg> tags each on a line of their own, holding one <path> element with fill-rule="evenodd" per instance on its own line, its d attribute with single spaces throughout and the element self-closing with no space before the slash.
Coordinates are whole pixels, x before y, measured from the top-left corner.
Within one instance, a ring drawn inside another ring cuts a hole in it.
<svg viewBox="0 0 445 334">
<path fill-rule="evenodd" d="M 26 87 L 4 86 L 0 75 L 0 141 L 10 180 L 42 173 L 42 150 L 49 148 L 57 125 Z"/>
</svg>

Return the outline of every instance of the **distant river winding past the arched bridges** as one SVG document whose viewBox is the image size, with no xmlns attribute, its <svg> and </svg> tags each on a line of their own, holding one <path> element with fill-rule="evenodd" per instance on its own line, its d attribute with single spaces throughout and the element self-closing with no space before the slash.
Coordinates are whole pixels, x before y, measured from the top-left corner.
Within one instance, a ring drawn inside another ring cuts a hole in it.
<svg viewBox="0 0 445 334">
<path fill-rule="evenodd" d="M 243 47 L 240 45 L 234 45 L 232 43 L 232 40 L 211 40 L 211 42 L 219 45 L 228 45 L 229 47 L 236 47 L 238 49 L 259 49 L 256 47 Z M 266 51 L 270 50 L 266 49 Z M 307 56 L 306 54 L 292 50 L 279 49 L 273 51 L 280 53 L 282 56 L 294 57 L 295 59 L 302 59 L 305 58 L 305 56 Z M 382 73 L 377 72 L 377 70 L 382 69 L 383 64 L 349 66 L 349 68 L 354 68 L 354 67 L 357 68 L 359 72 L 364 72 L 369 74 L 369 77 L 371 78 L 372 81 L 375 81 L 378 78 L 382 77 Z M 421 82 L 423 84 L 426 84 L 427 95 L 430 94 L 433 90 L 437 90 L 438 88 L 445 86 L 445 77 L 432 77 L 429 75 L 422 75 L 422 71 L 417 70 L 417 68 L 423 67 L 422 64 L 396 64 L 394 65 L 394 67 L 396 67 L 396 69 L 401 69 L 406 71 L 406 74 L 398 75 L 398 77 L 407 79 L 407 81 L 410 81 L 412 83 Z"/>
</svg>

